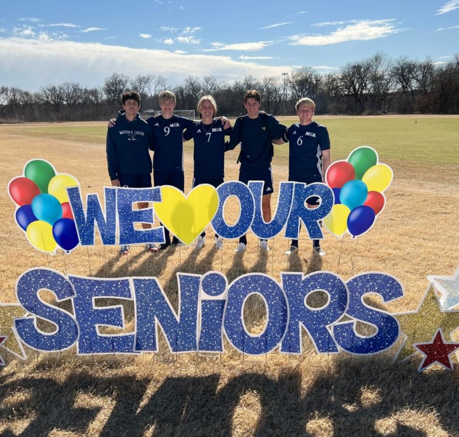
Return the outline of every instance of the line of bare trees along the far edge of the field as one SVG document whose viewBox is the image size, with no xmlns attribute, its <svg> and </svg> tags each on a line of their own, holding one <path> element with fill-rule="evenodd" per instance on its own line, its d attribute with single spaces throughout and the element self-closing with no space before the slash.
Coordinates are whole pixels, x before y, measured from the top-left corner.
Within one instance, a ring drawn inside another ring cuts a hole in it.
<svg viewBox="0 0 459 437">
<path fill-rule="evenodd" d="M 316 102 L 317 114 L 458 114 L 459 54 L 435 63 L 430 58 L 392 59 L 378 52 L 325 75 L 305 66 L 281 77 L 247 76 L 232 84 L 214 76 L 188 76 L 172 86 L 161 75 L 131 78 L 113 73 L 104 85 L 93 88 L 78 82 L 48 85 L 35 92 L 2 86 L 0 122 L 107 120 L 119 110 L 121 94 L 127 89 L 141 94 L 142 111 L 159 110 L 158 93 L 171 89 L 177 110 L 195 109 L 200 96 L 211 94 L 219 114 L 238 116 L 245 113 L 244 92 L 256 89 L 262 94 L 262 108 L 274 115 L 294 114 L 301 97 Z"/>
</svg>

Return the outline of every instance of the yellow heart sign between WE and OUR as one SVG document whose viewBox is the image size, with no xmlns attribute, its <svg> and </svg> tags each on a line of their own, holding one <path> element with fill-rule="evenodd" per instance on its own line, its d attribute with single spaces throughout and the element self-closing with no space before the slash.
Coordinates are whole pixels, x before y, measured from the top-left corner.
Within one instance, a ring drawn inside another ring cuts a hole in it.
<svg viewBox="0 0 459 437">
<path fill-rule="evenodd" d="M 187 197 L 180 189 L 163 185 L 161 202 L 154 202 L 154 207 L 161 223 L 180 241 L 190 244 L 212 221 L 219 202 L 212 185 L 198 185 Z"/>
</svg>

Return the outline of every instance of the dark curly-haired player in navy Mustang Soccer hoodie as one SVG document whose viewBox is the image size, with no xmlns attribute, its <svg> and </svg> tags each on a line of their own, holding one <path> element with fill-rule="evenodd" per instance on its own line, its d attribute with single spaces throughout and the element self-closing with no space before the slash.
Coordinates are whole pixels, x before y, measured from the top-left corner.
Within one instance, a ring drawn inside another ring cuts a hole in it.
<svg viewBox="0 0 459 437">
<path fill-rule="evenodd" d="M 140 94 L 126 91 L 122 95 L 123 110 L 119 111 L 116 127 L 107 130 L 107 163 L 112 186 L 147 188 L 151 186 L 151 159 L 153 136 L 148 124 L 139 115 Z M 148 203 L 139 202 L 140 208 Z M 142 223 L 143 228 L 150 228 Z M 150 250 L 147 244 L 147 250 Z M 128 245 L 122 245 L 120 254 L 127 255 Z"/>
</svg>

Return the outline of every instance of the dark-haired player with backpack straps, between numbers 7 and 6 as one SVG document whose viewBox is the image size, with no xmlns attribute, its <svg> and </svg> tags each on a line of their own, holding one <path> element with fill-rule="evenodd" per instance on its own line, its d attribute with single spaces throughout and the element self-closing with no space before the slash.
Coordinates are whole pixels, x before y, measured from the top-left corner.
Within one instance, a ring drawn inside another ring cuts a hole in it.
<svg viewBox="0 0 459 437">
<path fill-rule="evenodd" d="M 244 95 L 244 107 L 247 115 L 238 117 L 231 132 L 230 146 L 234 149 L 241 143 L 241 152 L 238 162 L 239 181 L 248 184 L 250 180 L 264 181 L 262 211 L 263 220 L 271 221 L 271 194 L 274 191 L 271 159 L 274 154 L 274 144 L 283 144 L 281 136 L 286 126 L 279 123 L 270 114 L 260 113 L 261 96 L 258 91 L 249 90 Z M 260 248 L 269 251 L 268 241 L 260 240 Z M 247 247 L 247 237 L 239 238 L 235 252 L 244 252 Z"/>
</svg>

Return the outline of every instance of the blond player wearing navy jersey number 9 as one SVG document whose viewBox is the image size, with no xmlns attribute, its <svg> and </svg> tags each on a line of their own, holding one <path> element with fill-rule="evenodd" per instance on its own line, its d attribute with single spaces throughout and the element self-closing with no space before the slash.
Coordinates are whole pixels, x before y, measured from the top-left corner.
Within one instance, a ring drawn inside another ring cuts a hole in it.
<svg viewBox="0 0 459 437">
<path fill-rule="evenodd" d="M 176 105 L 175 94 L 169 90 L 163 90 L 158 95 L 158 102 L 161 114 L 150 117 L 148 125 L 155 140 L 153 155 L 153 179 L 155 186 L 172 185 L 175 188 L 184 190 L 184 171 L 183 171 L 183 131 L 193 125 L 193 120 L 179 117 L 174 114 Z M 230 126 L 230 122 L 222 118 L 225 127 Z M 113 120 L 109 126 L 113 126 Z M 164 228 L 166 241 L 160 245 L 159 249 L 166 249 L 171 245 L 169 230 Z M 174 235 L 172 244 L 183 245 Z M 156 245 L 152 245 L 151 252 L 158 251 Z"/>
</svg>

